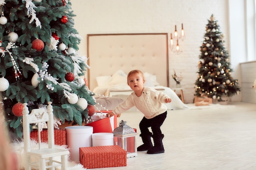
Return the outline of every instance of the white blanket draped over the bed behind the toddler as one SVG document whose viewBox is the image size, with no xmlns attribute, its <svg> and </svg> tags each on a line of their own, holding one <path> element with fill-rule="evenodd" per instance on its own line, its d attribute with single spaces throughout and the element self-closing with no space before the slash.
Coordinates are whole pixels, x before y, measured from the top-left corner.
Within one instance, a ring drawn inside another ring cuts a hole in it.
<svg viewBox="0 0 256 170">
<path fill-rule="evenodd" d="M 177 94 L 169 87 L 165 86 L 154 86 L 155 89 L 164 89 L 162 90 L 165 94 L 167 94 L 171 99 L 171 103 L 166 104 L 168 110 L 178 110 L 178 109 L 186 109 L 189 108 L 184 104 L 180 97 L 177 96 Z M 93 93 L 97 95 L 105 95 L 109 96 L 110 91 L 130 91 L 130 87 L 127 84 L 117 84 L 114 86 L 97 86 L 94 88 Z"/>
</svg>

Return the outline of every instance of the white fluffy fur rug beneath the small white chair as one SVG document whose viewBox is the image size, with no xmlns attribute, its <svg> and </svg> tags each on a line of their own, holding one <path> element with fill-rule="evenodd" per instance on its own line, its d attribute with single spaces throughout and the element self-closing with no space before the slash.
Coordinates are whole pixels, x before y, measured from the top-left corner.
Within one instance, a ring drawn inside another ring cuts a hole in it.
<svg viewBox="0 0 256 170">
<path fill-rule="evenodd" d="M 42 144 L 42 148 L 47 148 L 48 144 L 47 143 L 43 143 Z M 24 157 L 24 143 L 23 141 L 16 141 L 11 143 L 11 147 L 13 149 L 13 152 L 16 154 L 18 163 L 18 170 L 25 170 L 25 157 Z M 61 149 L 67 149 L 67 146 L 63 145 L 63 146 L 58 146 L 55 145 L 56 148 L 61 148 Z M 31 141 L 31 149 L 33 148 L 38 148 L 38 144 L 36 141 Z M 56 160 L 60 161 L 61 157 L 56 157 Z M 68 170 L 85 170 L 86 168 L 83 168 L 83 165 L 80 163 L 77 163 L 76 161 L 69 161 L 68 164 Z M 56 170 L 60 170 L 60 167 L 57 167 Z"/>
</svg>

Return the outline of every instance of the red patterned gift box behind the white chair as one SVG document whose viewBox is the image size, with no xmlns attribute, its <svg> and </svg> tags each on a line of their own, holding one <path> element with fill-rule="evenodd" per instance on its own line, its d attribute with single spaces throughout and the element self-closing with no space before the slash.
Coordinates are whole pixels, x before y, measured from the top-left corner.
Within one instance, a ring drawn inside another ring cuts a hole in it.
<svg viewBox="0 0 256 170">
<path fill-rule="evenodd" d="M 41 142 L 48 142 L 47 129 L 43 129 L 40 132 Z M 34 130 L 30 133 L 30 139 L 38 141 L 38 131 Z M 65 129 L 54 129 L 54 144 L 66 145 L 66 132 Z"/>
</svg>

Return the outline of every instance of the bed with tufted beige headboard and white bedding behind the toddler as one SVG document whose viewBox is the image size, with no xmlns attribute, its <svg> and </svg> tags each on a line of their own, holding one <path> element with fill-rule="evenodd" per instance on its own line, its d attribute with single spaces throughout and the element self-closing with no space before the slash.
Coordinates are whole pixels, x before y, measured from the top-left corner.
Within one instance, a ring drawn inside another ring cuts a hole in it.
<svg viewBox="0 0 256 170">
<path fill-rule="evenodd" d="M 188 108 L 169 88 L 167 33 L 88 34 L 87 56 L 88 87 L 96 95 L 125 99 L 132 93 L 126 75 L 139 69 L 145 86 L 171 97 L 168 110 Z"/>
</svg>

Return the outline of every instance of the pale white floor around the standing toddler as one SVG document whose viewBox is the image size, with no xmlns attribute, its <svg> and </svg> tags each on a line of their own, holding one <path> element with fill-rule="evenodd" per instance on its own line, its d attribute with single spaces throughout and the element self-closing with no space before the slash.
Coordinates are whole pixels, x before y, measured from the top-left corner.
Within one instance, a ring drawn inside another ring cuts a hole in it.
<svg viewBox="0 0 256 170">
<path fill-rule="evenodd" d="M 142 117 L 126 112 L 117 123 L 123 119 L 139 134 Z M 92 170 L 256 170 L 256 104 L 168 110 L 162 132 L 165 153 L 138 152 L 125 167 Z"/>
</svg>

